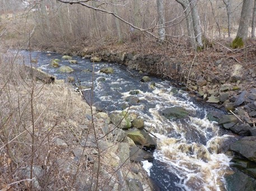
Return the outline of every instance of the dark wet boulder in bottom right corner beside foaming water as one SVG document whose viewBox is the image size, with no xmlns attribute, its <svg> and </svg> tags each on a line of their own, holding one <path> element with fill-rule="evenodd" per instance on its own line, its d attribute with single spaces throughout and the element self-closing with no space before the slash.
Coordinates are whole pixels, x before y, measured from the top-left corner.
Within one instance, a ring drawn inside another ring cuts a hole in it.
<svg viewBox="0 0 256 191">
<path fill-rule="evenodd" d="M 226 176 L 226 185 L 227 191 L 251 191 L 256 188 L 256 180 L 241 171 L 236 171 L 234 174 Z"/>
</svg>

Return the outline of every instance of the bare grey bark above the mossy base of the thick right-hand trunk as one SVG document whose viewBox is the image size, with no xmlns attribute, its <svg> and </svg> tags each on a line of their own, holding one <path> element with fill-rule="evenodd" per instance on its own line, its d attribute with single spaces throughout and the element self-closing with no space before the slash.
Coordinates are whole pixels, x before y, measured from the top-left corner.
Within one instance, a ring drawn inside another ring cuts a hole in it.
<svg viewBox="0 0 256 191">
<path fill-rule="evenodd" d="M 253 0 L 244 0 L 241 11 L 238 34 L 236 35 L 236 38 L 241 38 L 243 41 L 245 41 L 248 37 L 248 28 L 252 13 L 252 7 Z"/>
</svg>

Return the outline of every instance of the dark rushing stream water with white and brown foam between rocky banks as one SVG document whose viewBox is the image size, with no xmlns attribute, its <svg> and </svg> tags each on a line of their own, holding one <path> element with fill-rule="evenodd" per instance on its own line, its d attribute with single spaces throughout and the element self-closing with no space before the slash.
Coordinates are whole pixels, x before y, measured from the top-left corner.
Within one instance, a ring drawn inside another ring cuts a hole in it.
<svg viewBox="0 0 256 191">
<path fill-rule="evenodd" d="M 58 79 L 73 76 L 81 85 L 91 87 L 94 82 L 94 103 L 106 112 L 122 111 L 127 105 L 125 98 L 131 96 L 131 90 L 138 90 L 134 95 L 139 98 L 130 112 L 136 112 L 145 120 L 147 130 L 157 137 L 157 149 L 153 153 L 152 163 L 144 161 L 143 165 L 160 190 L 226 190 L 225 174 L 231 172 L 231 157 L 222 154 L 223 144 L 232 135 L 207 120 L 210 106 L 197 103 L 186 92 L 171 86 L 167 80 L 152 78 L 155 88 L 150 83 L 142 83 L 137 71 L 128 71 L 123 66 L 109 63 L 95 63 L 82 58 L 73 58 L 78 64 L 70 65 L 62 60 L 60 65 L 69 65 L 75 70 L 71 74 L 58 74 L 57 69 L 49 68 L 52 59 L 61 59 L 61 55 L 52 52 L 21 51 L 24 62 L 30 58 L 38 59 L 37 67 L 54 74 Z M 114 68 L 114 74 L 99 73 L 103 67 Z M 94 70 L 92 75 L 85 69 Z M 103 81 L 103 78 L 105 80 Z M 90 88 L 85 89 L 90 99 Z M 89 100 L 90 101 L 90 100 Z M 169 120 L 162 116 L 164 108 L 181 106 L 190 112 L 189 117 Z M 216 109 L 215 109 L 216 110 Z M 221 111 L 218 111 L 221 112 Z"/>
</svg>

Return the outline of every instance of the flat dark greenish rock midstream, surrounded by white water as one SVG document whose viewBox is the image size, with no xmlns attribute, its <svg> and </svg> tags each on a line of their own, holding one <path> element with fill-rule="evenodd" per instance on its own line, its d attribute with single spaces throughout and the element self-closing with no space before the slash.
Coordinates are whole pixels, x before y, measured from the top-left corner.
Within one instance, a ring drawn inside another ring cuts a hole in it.
<svg viewBox="0 0 256 191">
<path fill-rule="evenodd" d="M 162 115 L 164 115 L 166 118 L 169 118 L 170 120 L 173 120 L 175 118 L 187 117 L 189 114 L 189 112 L 183 107 L 176 107 L 176 106 L 163 109 L 161 113 Z"/>
</svg>

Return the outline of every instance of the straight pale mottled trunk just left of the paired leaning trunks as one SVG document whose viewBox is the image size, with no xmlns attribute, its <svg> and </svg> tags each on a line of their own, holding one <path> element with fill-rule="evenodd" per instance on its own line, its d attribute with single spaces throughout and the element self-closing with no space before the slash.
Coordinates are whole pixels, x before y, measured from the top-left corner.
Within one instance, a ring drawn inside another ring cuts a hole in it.
<svg viewBox="0 0 256 191">
<path fill-rule="evenodd" d="M 158 20 L 158 35 L 161 40 L 166 39 L 165 16 L 164 16 L 164 0 L 157 0 L 157 20 Z"/>
</svg>

